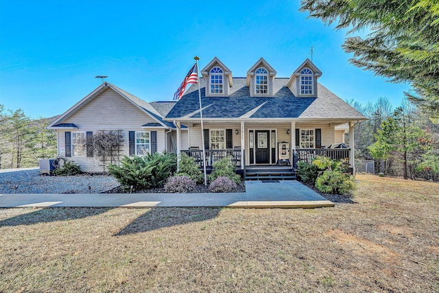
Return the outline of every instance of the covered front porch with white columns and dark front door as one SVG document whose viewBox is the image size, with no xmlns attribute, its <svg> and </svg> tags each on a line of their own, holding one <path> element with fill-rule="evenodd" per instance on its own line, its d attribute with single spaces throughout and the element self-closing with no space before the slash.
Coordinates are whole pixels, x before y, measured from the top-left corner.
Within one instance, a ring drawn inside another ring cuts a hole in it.
<svg viewBox="0 0 439 293">
<path fill-rule="evenodd" d="M 202 148 L 204 145 L 206 169 L 208 170 L 212 169 L 213 163 L 225 156 L 230 156 L 233 165 L 242 172 L 257 167 L 270 169 L 279 166 L 287 167 L 295 172 L 299 161 L 311 163 L 311 160 L 316 156 L 328 156 L 336 160 L 343 159 L 350 167 L 354 168 L 351 148 L 329 148 L 334 143 L 344 143 L 342 135 L 336 135 L 335 126 L 346 124 L 346 121 L 316 122 L 318 123 L 278 121 L 276 124 L 262 124 L 239 121 L 238 124 L 232 121 L 228 123 L 211 121 L 204 124 L 203 130 L 200 124 L 191 123 L 188 124 L 190 128 L 188 138 L 187 140 L 183 139 L 183 141 L 187 141 L 185 143 L 181 143 L 181 126 L 178 123 L 176 130 L 177 152 L 185 152 L 195 159 L 195 163 L 200 168 L 203 168 Z M 354 121 L 349 121 L 344 130 L 348 130 L 351 145 L 354 141 L 353 128 Z M 308 133 L 308 136 L 305 135 Z"/>
</svg>

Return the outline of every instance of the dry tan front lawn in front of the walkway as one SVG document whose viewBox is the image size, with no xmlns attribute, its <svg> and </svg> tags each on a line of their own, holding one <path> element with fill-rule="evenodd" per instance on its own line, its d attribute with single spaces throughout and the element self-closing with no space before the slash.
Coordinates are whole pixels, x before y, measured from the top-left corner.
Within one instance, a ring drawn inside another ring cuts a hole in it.
<svg viewBox="0 0 439 293">
<path fill-rule="evenodd" d="M 323 209 L 0 209 L 0 292 L 438 292 L 439 184 Z"/>
</svg>

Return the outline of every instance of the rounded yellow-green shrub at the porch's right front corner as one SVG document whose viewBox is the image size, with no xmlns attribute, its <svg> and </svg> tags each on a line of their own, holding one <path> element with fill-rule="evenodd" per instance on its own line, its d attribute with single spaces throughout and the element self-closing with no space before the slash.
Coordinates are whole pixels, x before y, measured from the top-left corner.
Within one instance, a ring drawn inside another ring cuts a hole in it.
<svg viewBox="0 0 439 293">
<path fill-rule="evenodd" d="M 356 188 L 353 176 L 329 169 L 318 176 L 316 187 L 327 194 L 348 194 Z"/>
</svg>

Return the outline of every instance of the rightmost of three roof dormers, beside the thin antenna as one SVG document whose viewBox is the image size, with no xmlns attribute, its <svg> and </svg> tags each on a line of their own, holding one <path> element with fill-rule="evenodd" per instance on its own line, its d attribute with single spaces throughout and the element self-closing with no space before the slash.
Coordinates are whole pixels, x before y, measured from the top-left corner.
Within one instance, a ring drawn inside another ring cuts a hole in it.
<svg viewBox="0 0 439 293">
<path fill-rule="evenodd" d="M 317 79 L 322 71 L 307 58 L 289 78 L 287 86 L 296 97 L 317 97 Z"/>
</svg>

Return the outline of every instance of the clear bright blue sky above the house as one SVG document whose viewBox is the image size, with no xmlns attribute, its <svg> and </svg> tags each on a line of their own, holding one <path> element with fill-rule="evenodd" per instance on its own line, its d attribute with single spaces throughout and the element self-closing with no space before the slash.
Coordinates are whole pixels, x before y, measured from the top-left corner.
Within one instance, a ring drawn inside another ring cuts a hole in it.
<svg viewBox="0 0 439 293">
<path fill-rule="evenodd" d="M 399 106 L 407 84 L 348 63 L 345 31 L 298 12 L 299 1 L 0 0 L 0 104 L 31 117 L 64 113 L 101 83 L 171 100 L 193 56 L 245 77 L 263 57 L 289 77 L 315 48 L 319 82 L 342 99 Z"/>
</svg>

